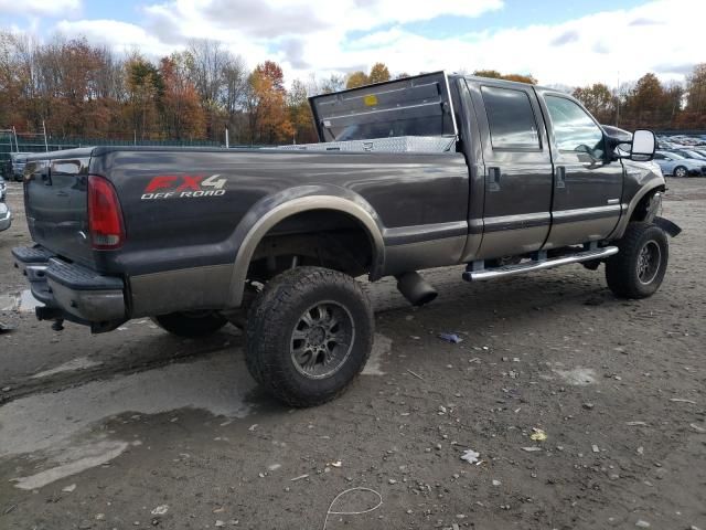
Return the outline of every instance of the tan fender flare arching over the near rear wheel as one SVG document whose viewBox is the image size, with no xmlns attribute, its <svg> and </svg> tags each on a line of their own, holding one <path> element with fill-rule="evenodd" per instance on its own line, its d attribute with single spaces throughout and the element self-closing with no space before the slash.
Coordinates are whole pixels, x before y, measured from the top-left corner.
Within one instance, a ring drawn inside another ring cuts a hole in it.
<svg viewBox="0 0 706 530">
<path fill-rule="evenodd" d="M 373 268 L 370 277 L 381 277 L 385 263 L 383 229 L 367 201 L 350 190 L 334 186 L 289 189 L 258 201 L 238 224 L 234 234 L 237 254 L 231 276 L 228 306 L 240 306 L 250 259 L 263 237 L 280 221 L 311 210 L 341 212 L 359 221 L 367 232 L 373 246 Z"/>
</svg>

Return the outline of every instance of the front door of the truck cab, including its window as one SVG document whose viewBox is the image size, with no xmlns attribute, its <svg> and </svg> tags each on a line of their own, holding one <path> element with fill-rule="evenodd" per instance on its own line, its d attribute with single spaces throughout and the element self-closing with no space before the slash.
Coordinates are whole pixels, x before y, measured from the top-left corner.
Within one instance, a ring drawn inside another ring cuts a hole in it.
<svg viewBox="0 0 706 530">
<path fill-rule="evenodd" d="M 555 183 L 545 248 L 599 241 L 621 214 L 623 166 L 606 152 L 603 130 L 566 94 L 537 89 L 547 119 Z"/>
</svg>

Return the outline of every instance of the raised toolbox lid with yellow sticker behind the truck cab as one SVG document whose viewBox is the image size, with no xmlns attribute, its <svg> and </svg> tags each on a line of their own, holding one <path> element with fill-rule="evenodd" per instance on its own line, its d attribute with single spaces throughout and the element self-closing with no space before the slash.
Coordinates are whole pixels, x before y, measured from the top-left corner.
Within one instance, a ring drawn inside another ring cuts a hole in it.
<svg viewBox="0 0 706 530">
<path fill-rule="evenodd" d="M 445 72 L 309 98 L 319 141 L 457 136 Z"/>
</svg>

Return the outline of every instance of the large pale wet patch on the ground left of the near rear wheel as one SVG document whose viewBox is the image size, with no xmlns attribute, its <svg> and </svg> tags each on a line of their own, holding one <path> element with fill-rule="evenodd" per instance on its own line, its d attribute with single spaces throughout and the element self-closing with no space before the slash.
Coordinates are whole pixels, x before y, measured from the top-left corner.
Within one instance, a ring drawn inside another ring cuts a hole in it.
<svg viewBox="0 0 706 530">
<path fill-rule="evenodd" d="M 249 412 L 245 395 L 254 386 L 242 351 L 231 350 L 195 362 L 22 398 L 0 407 L 0 458 L 23 454 L 46 458 L 49 468 L 15 480 L 19 488 L 38 488 L 119 456 L 129 446 L 127 442 L 92 434 L 110 416 L 190 407 L 245 417 Z"/>
</svg>

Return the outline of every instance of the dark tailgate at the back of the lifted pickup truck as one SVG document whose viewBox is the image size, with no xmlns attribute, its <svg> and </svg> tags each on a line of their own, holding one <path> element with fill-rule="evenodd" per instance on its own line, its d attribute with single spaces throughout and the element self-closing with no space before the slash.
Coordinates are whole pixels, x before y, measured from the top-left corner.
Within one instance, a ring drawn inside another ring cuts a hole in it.
<svg viewBox="0 0 706 530">
<path fill-rule="evenodd" d="M 93 265 L 88 237 L 89 153 L 82 149 L 34 157 L 24 172 L 24 206 L 32 239 L 56 255 L 88 266 Z"/>
</svg>

